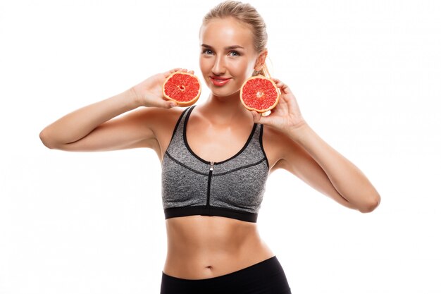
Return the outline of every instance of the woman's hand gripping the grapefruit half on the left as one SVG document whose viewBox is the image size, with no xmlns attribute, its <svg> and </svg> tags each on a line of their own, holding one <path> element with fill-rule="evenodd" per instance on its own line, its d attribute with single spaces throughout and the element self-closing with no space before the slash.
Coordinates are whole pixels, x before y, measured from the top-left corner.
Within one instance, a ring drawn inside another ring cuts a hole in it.
<svg viewBox="0 0 441 294">
<path fill-rule="evenodd" d="M 146 107 L 163 107 L 171 108 L 176 106 L 176 103 L 166 99 L 162 94 L 162 85 L 166 81 L 169 75 L 176 71 L 187 72 L 185 68 L 173 68 L 165 73 L 158 73 L 152 75 L 147 80 L 140 82 L 138 85 L 133 86 L 130 90 L 135 95 L 135 100 L 139 105 Z M 194 71 L 188 73 L 194 74 Z"/>
</svg>

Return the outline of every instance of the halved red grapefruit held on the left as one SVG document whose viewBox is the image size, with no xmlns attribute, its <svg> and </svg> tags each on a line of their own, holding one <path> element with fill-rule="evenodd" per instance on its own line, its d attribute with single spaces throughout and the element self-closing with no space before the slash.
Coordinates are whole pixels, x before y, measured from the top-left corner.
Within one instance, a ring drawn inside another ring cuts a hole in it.
<svg viewBox="0 0 441 294">
<path fill-rule="evenodd" d="M 166 99 L 175 101 L 178 106 L 189 106 L 201 96 L 201 83 L 196 75 L 177 71 L 166 78 L 162 94 Z"/>
</svg>

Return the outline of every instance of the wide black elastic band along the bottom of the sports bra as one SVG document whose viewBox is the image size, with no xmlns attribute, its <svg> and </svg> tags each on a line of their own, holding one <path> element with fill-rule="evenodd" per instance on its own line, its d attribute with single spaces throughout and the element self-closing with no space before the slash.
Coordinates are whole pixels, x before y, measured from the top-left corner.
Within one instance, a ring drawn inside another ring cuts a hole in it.
<svg viewBox="0 0 441 294">
<path fill-rule="evenodd" d="M 230 219 L 239 219 L 240 221 L 249 221 L 251 223 L 257 222 L 258 214 L 252 212 L 242 212 L 236 209 L 230 209 L 225 207 L 213 207 L 206 205 L 187 206 L 187 207 L 170 207 L 164 209 L 166 219 L 179 216 L 224 216 Z"/>
</svg>

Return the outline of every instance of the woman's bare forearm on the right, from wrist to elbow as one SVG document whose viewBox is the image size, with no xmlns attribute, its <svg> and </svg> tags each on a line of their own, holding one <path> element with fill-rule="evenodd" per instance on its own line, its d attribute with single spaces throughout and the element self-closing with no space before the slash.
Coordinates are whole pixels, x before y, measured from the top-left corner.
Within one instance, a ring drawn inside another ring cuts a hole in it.
<svg viewBox="0 0 441 294">
<path fill-rule="evenodd" d="M 325 171 L 335 190 L 361 212 L 371 212 L 380 202 L 380 195 L 368 178 L 351 161 L 328 145 L 304 123 L 288 130 L 287 135 L 301 145 Z"/>
</svg>

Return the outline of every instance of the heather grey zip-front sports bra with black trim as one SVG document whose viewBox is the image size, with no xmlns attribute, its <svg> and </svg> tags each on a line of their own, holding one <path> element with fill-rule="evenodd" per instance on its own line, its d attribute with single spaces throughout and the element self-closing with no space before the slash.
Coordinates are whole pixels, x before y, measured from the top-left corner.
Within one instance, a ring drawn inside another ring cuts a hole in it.
<svg viewBox="0 0 441 294">
<path fill-rule="evenodd" d="M 182 111 L 161 163 L 166 219 L 202 215 L 257 222 L 269 171 L 263 125 L 254 123 L 244 147 L 234 156 L 206 161 L 187 142 L 187 122 L 195 106 Z"/>
</svg>

